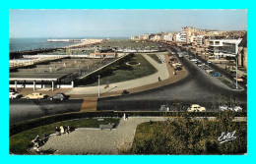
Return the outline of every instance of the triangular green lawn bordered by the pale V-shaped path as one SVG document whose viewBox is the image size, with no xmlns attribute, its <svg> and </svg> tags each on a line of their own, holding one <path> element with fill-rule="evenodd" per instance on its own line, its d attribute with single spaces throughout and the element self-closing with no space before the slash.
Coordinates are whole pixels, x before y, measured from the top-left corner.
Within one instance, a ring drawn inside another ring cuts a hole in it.
<svg viewBox="0 0 256 164">
<path fill-rule="evenodd" d="M 130 70 L 124 70 L 124 69 L 114 70 L 113 75 L 101 78 L 100 84 L 125 82 L 125 81 L 130 81 L 130 80 L 135 80 L 138 78 L 150 76 L 152 74 L 157 73 L 157 69 L 154 66 L 152 66 L 152 64 L 150 64 L 148 60 L 145 59 L 141 54 L 135 54 L 132 60 L 139 62 L 140 65 L 130 66 L 132 67 L 132 69 Z M 123 64 L 126 65 L 126 63 L 123 63 Z M 97 85 L 97 82 L 87 84 L 86 86 L 95 86 L 95 85 Z"/>
</svg>

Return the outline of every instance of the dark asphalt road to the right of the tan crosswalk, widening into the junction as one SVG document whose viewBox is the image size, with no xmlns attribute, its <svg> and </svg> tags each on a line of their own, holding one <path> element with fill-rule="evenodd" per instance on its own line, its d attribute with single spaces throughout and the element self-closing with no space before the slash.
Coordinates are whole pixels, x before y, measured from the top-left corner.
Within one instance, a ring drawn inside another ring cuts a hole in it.
<svg viewBox="0 0 256 164">
<path fill-rule="evenodd" d="M 161 104 L 172 102 L 199 103 L 211 110 L 213 101 L 217 101 L 216 97 L 221 94 L 228 98 L 231 96 L 247 106 L 246 90 L 231 90 L 185 57 L 179 60 L 188 73 L 183 80 L 140 93 L 100 98 L 97 101 L 97 110 L 159 110 Z"/>
</svg>

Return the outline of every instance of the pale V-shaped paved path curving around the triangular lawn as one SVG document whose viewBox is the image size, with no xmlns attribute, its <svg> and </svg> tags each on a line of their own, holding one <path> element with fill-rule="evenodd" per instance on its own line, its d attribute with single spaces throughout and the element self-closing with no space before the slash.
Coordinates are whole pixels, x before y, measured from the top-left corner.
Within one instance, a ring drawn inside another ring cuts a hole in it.
<svg viewBox="0 0 256 164">
<path fill-rule="evenodd" d="M 166 52 L 159 53 L 160 58 L 164 60 L 164 55 L 166 54 L 167 54 Z M 108 90 L 117 91 L 117 90 L 139 87 L 139 86 L 143 86 L 151 83 L 156 83 L 156 82 L 159 82 L 159 77 L 162 81 L 169 78 L 166 63 L 159 64 L 147 54 L 142 54 L 142 56 L 145 57 L 146 60 L 148 60 L 158 70 L 157 73 L 147 77 L 140 78 L 140 79 L 131 80 L 131 81 L 110 83 L 109 87 L 107 88 L 104 88 L 105 84 L 100 85 L 101 93 L 106 92 Z M 66 94 L 96 94 L 97 91 L 98 91 L 98 86 L 75 87 L 67 91 Z"/>
</svg>

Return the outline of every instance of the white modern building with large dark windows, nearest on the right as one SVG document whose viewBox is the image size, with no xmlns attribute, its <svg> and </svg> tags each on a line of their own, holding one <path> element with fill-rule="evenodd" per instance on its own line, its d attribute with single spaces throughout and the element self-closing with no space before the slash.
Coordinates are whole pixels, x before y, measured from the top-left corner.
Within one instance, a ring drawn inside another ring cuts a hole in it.
<svg viewBox="0 0 256 164">
<path fill-rule="evenodd" d="M 215 59 L 220 57 L 235 57 L 238 53 L 239 39 L 210 39 L 209 52 L 215 56 Z"/>
</svg>

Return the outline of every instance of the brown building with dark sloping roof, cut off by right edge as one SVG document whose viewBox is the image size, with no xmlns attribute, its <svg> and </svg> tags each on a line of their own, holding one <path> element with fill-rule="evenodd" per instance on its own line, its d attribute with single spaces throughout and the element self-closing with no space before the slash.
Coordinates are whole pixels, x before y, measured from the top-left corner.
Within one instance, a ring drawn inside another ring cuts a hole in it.
<svg viewBox="0 0 256 164">
<path fill-rule="evenodd" d="M 247 69 L 247 32 L 238 44 L 238 65 Z"/>
</svg>

